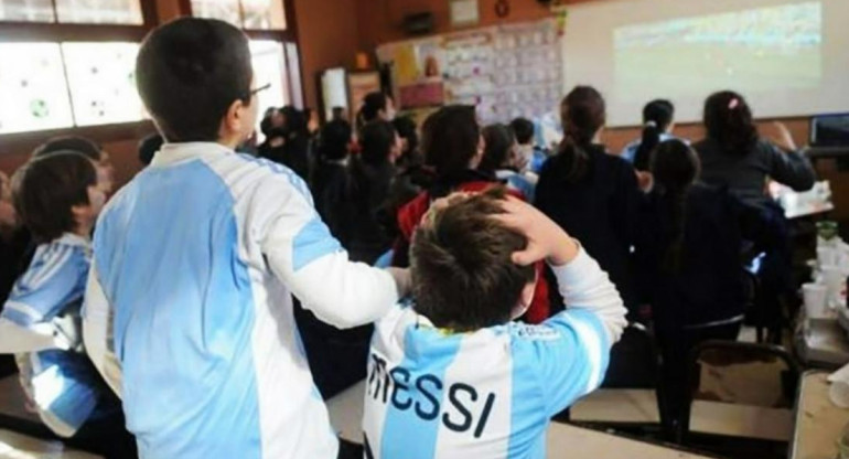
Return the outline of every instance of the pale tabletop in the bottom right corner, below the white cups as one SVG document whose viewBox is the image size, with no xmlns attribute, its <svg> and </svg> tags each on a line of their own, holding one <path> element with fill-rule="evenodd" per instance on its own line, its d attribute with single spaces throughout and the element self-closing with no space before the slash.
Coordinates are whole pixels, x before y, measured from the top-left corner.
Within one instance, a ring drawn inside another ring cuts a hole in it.
<svg viewBox="0 0 849 459">
<path fill-rule="evenodd" d="M 810 371 L 802 375 L 791 459 L 837 457 L 836 442 L 849 423 L 849 409 L 836 407 L 828 398 L 828 374 Z"/>
</svg>

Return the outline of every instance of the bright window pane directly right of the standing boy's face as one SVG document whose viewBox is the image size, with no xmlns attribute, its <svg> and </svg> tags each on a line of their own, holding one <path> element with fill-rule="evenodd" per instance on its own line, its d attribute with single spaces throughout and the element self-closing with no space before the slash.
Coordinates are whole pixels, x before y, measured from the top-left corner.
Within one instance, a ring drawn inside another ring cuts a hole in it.
<svg viewBox="0 0 849 459">
<path fill-rule="evenodd" d="M 254 64 L 254 87 L 271 85 L 268 89 L 257 93 L 259 113 L 265 113 L 269 107 L 288 105 L 289 90 L 286 78 L 283 44 L 270 40 L 252 40 L 250 42 L 250 54 L 252 55 Z M 257 122 L 259 121 L 261 119 L 257 120 Z M 259 132 L 259 124 L 257 124 L 257 132 Z"/>
</svg>

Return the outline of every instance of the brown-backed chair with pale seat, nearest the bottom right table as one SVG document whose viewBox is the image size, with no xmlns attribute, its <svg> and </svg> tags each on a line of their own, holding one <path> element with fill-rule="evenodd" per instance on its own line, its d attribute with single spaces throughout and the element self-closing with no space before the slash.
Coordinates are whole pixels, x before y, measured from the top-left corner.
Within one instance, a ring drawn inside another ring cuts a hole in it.
<svg viewBox="0 0 849 459">
<path fill-rule="evenodd" d="M 798 365 L 778 346 L 699 344 L 688 362 L 677 442 L 729 456 L 786 455 L 798 376 Z"/>
</svg>

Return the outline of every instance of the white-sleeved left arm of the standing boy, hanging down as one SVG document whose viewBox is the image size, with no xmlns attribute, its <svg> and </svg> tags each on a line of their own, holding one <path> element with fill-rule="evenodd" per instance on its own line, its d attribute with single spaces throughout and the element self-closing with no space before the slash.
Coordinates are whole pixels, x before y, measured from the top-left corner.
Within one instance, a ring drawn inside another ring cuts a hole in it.
<svg viewBox="0 0 849 459">
<path fill-rule="evenodd" d="M 83 341 L 86 353 L 109 387 L 121 396 L 121 365 L 115 355 L 112 341 L 112 308 L 104 293 L 97 275 L 97 267 L 92 264 L 86 285 L 83 307 Z"/>
</svg>

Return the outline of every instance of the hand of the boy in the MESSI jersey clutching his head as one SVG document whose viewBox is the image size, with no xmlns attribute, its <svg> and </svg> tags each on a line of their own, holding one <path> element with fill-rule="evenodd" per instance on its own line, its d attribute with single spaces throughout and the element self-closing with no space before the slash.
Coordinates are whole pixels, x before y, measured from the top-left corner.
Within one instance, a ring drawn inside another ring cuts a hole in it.
<svg viewBox="0 0 849 459">
<path fill-rule="evenodd" d="M 494 218 L 528 239 L 524 250 L 513 254 L 515 264 L 527 266 L 545 259 L 551 265 L 563 266 L 578 256 L 578 243 L 534 206 L 507 196 L 502 203 L 502 209 L 504 213 L 495 215 Z"/>
</svg>

